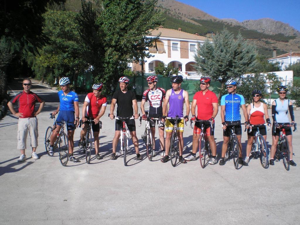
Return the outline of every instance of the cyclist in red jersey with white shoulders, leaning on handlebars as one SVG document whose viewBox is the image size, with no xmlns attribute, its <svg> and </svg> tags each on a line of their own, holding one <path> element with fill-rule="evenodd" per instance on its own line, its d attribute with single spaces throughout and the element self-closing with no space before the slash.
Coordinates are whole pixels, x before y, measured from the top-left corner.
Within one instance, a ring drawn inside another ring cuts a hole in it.
<svg viewBox="0 0 300 225">
<path fill-rule="evenodd" d="M 103 159 L 99 155 L 99 132 L 100 124 L 99 120 L 101 116 L 105 113 L 107 98 L 101 95 L 101 90 L 103 88 L 103 83 L 95 83 L 93 85 L 93 92 L 88 93 L 85 97 L 83 108 L 82 108 L 82 121 L 86 122 L 88 119 L 94 119 L 94 124 L 91 125 L 94 135 L 94 146 L 95 146 L 95 156 L 97 159 Z M 82 131 L 80 132 L 80 141 L 78 143 L 79 147 L 82 147 L 82 140 L 87 132 L 87 123 L 82 125 Z"/>
</svg>

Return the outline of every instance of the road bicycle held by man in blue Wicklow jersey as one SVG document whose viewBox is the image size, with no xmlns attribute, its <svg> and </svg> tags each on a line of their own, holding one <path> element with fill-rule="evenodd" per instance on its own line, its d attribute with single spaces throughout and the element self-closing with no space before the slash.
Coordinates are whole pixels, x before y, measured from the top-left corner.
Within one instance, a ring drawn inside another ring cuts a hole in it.
<svg viewBox="0 0 300 225">
<path fill-rule="evenodd" d="M 227 151 L 225 154 L 225 159 L 229 160 L 230 155 L 233 155 L 233 164 L 235 169 L 238 169 L 238 161 L 239 161 L 239 155 L 242 155 L 241 149 L 238 145 L 238 138 L 235 134 L 235 126 L 240 126 L 241 122 L 226 122 L 226 127 L 230 128 L 230 137 L 229 137 L 229 143 L 227 147 Z"/>
</svg>

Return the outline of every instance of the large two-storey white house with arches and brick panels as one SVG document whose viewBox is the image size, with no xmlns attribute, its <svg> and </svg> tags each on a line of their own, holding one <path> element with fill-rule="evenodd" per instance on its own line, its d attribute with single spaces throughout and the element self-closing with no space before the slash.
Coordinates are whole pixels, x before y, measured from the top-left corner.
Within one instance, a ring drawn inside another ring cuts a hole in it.
<svg viewBox="0 0 300 225">
<path fill-rule="evenodd" d="M 207 39 L 198 34 L 190 34 L 178 30 L 166 29 L 160 26 L 158 29 L 151 31 L 152 36 L 158 34 L 159 39 L 154 43 L 154 47 L 149 48 L 149 52 L 154 57 L 146 59 L 144 64 L 145 73 L 155 73 L 155 67 L 158 63 L 163 62 L 168 65 L 171 63 L 174 68 L 179 68 L 179 73 L 183 76 L 199 78 L 200 74 L 193 68 L 196 63 L 194 55 L 197 53 L 198 43 L 201 45 Z M 211 40 L 211 39 L 209 39 Z M 133 71 L 141 71 L 142 66 L 137 63 L 131 63 Z"/>
</svg>

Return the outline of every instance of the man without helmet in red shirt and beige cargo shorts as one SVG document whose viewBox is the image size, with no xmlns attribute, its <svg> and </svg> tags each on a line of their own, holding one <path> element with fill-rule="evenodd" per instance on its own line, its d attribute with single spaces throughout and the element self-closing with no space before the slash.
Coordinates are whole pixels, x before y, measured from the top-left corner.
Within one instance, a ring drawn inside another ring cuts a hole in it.
<svg viewBox="0 0 300 225">
<path fill-rule="evenodd" d="M 31 80 L 23 80 L 23 91 L 16 94 L 8 103 L 7 106 L 10 112 L 19 118 L 18 120 L 18 145 L 17 148 L 21 150 L 21 156 L 18 159 L 18 162 L 26 160 L 25 149 L 26 149 L 26 138 L 29 131 L 31 139 L 32 154 L 31 157 L 38 159 L 35 150 L 38 146 L 38 120 L 36 115 L 41 113 L 42 108 L 44 107 L 45 101 L 41 99 L 37 94 L 30 91 Z M 35 103 L 39 102 L 40 107 L 38 111 L 35 111 Z M 13 109 L 13 104 L 18 103 L 19 112 L 17 113 Z"/>
</svg>

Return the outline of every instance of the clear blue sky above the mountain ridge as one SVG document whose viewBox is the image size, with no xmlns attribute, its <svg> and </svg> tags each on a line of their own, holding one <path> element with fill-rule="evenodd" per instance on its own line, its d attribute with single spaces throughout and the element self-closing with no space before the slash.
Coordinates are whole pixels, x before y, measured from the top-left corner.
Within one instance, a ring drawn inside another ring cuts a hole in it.
<svg viewBox="0 0 300 225">
<path fill-rule="evenodd" d="M 177 0 L 194 6 L 217 18 L 232 18 L 239 22 L 246 19 L 271 18 L 288 23 L 300 31 L 300 1 L 273 0 L 273 1 L 234 1 L 234 0 Z"/>
</svg>

